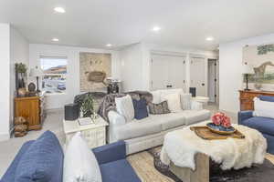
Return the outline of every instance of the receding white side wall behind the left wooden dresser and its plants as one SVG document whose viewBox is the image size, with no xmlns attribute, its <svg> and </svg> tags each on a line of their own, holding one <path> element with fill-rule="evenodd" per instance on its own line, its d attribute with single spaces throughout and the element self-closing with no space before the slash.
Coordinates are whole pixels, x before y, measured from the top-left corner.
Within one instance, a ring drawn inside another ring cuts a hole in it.
<svg viewBox="0 0 274 182">
<path fill-rule="evenodd" d="M 14 126 L 14 98 L 16 96 L 16 63 L 28 67 L 28 42 L 16 29 L 10 26 L 10 129 Z"/>
</svg>

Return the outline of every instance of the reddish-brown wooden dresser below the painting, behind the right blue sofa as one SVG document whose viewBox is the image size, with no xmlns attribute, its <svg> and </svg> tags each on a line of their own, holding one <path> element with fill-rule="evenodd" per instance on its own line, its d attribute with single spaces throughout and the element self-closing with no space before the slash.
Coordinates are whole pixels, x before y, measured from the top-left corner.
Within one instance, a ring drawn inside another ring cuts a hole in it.
<svg viewBox="0 0 274 182">
<path fill-rule="evenodd" d="M 253 98 L 259 95 L 274 96 L 274 92 L 258 90 L 239 90 L 240 110 L 254 110 Z"/>
</svg>

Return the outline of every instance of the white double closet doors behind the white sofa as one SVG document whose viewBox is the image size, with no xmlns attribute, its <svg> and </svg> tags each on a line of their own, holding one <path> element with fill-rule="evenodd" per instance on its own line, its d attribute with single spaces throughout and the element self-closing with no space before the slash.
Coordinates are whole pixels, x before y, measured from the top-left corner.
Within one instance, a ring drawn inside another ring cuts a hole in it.
<svg viewBox="0 0 274 182">
<path fill-rule="evenodd" d="M 185 57 L 152 55 L 152 90 L 184 88 Z"/>
</svg>

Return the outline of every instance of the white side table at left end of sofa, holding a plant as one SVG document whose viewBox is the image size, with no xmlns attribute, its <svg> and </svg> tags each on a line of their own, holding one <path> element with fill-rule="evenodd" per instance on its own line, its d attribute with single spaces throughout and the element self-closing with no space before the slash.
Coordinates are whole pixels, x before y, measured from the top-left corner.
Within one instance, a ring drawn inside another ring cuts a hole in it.
<svg viewBox="0 0 274 182">
<path fill-rule="evenodd" d="M 63 120 L 64 132 L 66 134 L 66 144 L 75 133 L 80 132 L 87 140 L 90 148 L 106 145 L 106 126 L 109 124 L 102 118 L 96 118 L 94 124 L 80 126 L 79 120 Z"/>
</svg>

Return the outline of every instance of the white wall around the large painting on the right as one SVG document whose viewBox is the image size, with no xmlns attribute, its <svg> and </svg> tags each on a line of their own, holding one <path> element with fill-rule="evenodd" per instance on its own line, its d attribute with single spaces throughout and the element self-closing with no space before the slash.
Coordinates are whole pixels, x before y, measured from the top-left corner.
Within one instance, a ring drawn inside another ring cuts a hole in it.
<svg viewBox="0 0 274 182">
<path fill-rule="evenodd" d="M 273 44 L 274 34 L 250 37 L 219 45 L 219 108 L 239 111 L 238 90 L 242 88 L 242 49 L 245 45 Z"/>
</svg>

